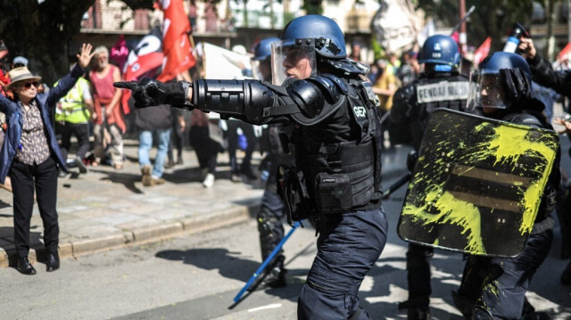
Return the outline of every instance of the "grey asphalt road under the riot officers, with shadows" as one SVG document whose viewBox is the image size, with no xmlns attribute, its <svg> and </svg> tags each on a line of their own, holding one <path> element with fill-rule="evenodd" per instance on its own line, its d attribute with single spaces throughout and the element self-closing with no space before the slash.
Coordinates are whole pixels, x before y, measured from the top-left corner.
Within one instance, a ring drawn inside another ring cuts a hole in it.
<svg viewBox="0 0 571 320">
<path fill-rule="evenodd" d="M 404 163 L 399 157 L 393 161 Z M 407 299 L 407 243 L 395 231 L 403 196 L 401 188 L 384 202 L 388 242 L 360 289 L 361 303 L 374 319 L 406 318 L 397 302 Z M 50 274 L 42 264 L 33 276 L 0 269 L 0 319 L 294 319 L 297 294 L 316 253 L 314 235 L 310 226 L 298 228 L 286 242 L 285 288 L 252 292 L 238 304 L 233 298 L 261 262 L 253 219 L 208 233 L 63 259 L 62 269 Z M 571 288 L 559 284 L 567 261 L 559 259 L 559 247 L 556 229 L 550 257 L 527 297 L 553 319 L 570 319 Z M 458 288 L 462 256 L 436 250 L 432 265 L 434 319 L 461 319 L 450 292 Z"/>
</svg>

